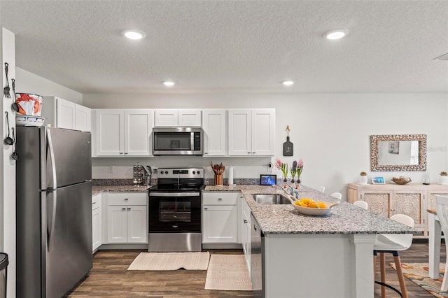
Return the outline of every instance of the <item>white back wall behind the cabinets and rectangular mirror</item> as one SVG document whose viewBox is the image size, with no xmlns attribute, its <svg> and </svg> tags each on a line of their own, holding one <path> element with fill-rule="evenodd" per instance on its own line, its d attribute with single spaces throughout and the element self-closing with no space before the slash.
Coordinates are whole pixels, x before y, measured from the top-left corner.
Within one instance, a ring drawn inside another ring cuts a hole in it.
<svg viewBox="0 0 448 298">
<path fill-rule="evenodd" d="M 235 178 L 259 178 L 267 164 L 279 158 L 288 162 L 304 159 L 302 182 L 325 192 L 342 192 L 368 176 L 409 176 L 421 183 L 448 168 L 447 94 L 83 94 L 90 108 L 276 108 L 276 154 L 268 157 L 152 157 L 146 159 L 94 158 L 94 178 L 131 178 L 135 162 L 151 166 L 204 166 L 210 161 L 235 167 Z M 282 156 L 286 126 L 290 127 L 293 157 Z M 427 171 L 370 172 L 370 135 L 426 134 Z M 115 166 L 109 174 L 107 166 Z M 273 173 L 281 176 L 274 169 Z M 208 171 L 209 178 L 212 177 Z M 369 177 L 370 178 L 370 177 Z"/>
</svg>

